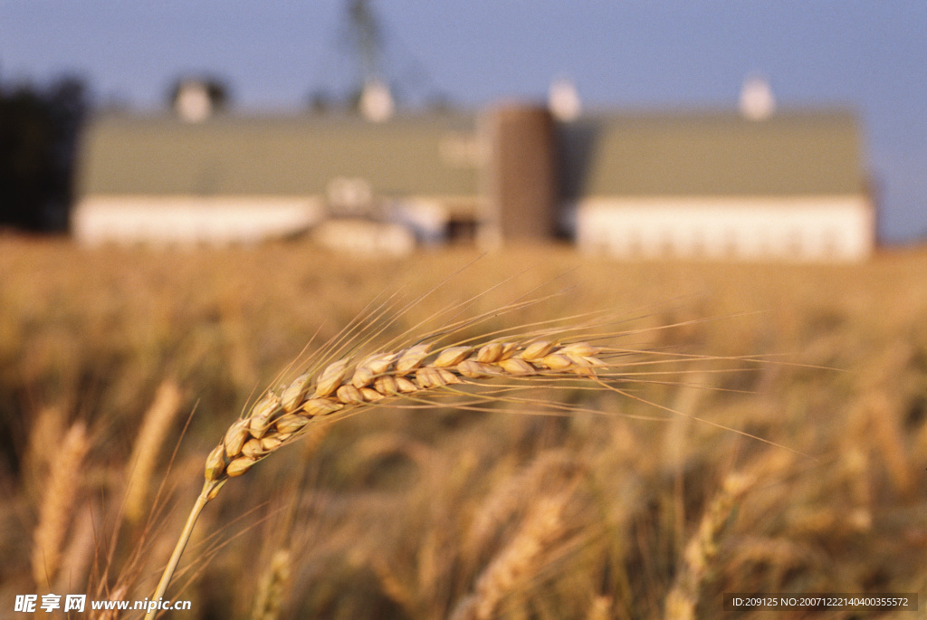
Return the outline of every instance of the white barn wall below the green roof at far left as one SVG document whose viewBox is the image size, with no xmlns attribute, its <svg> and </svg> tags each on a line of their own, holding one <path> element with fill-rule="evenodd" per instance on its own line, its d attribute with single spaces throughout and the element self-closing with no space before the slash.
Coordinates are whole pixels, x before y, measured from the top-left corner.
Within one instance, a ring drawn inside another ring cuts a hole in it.
<svg viewBox="0 0 927 620">
<path fill-rule="evenodd" d="M 322 200 L 306 196 L 86 196 L 72 229 L 85 245 L 225 245 L 298 234 L 322 217 Z"/>
</svg>

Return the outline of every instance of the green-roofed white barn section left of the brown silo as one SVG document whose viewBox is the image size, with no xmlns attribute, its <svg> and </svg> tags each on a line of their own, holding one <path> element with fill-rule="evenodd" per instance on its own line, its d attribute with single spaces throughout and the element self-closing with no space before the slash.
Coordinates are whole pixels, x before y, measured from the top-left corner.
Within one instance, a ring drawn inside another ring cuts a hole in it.
<svg viewBox="0 0 927 620">
<path fill-rule="evenodd" d="M 72 230 L 91 245 L 229 244 L 337 218 L 363 221 L 339 234 L 400 225 L 435 242 L 459 213 L 473 219 L 473 134 L 452 115 L 104 115 L 83 133 Z"/>
</svg>

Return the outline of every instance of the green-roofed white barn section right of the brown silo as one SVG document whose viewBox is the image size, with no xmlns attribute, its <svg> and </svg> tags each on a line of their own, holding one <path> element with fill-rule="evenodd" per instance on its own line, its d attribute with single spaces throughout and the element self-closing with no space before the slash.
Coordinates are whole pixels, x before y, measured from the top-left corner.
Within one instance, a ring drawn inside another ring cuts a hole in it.
<svg viewBox="0 0 927 620">
<path fill-rule="evenodd" d="M 563 136 L 564 209 L 586 253 L 856 261 L 873 251 L 851 114 L 609 116 Z"/>
</svg>

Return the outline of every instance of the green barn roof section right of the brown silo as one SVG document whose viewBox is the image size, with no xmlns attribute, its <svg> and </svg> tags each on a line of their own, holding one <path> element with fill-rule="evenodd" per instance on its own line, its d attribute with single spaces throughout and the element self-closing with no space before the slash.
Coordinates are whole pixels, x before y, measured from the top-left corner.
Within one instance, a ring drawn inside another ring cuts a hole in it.
<svg viewBox="0 0 927 620">
<path fill-rule="evenodd" d="M 592 117 L 561 132 L 566 196 L 790 196 L 865 190 L 857 122 L 841 111 Z"/>
</svg>

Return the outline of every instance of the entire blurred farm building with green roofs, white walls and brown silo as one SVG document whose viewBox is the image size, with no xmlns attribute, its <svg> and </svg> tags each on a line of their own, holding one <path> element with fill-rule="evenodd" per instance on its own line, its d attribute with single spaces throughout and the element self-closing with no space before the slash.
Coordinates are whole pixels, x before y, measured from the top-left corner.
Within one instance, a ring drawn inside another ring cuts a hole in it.
<svg viewBox="0 0 927 620">
<path fill-rule="evenodd" d="M 559 234 L 616 257 L 799 260 L 875 244 L 857 123 L 830 110 L 113 115 L 86 128 L 78 179 L 73 231 L 90 244 L 310 231 L 401 252 Z"/>
</svg>

